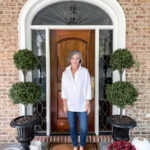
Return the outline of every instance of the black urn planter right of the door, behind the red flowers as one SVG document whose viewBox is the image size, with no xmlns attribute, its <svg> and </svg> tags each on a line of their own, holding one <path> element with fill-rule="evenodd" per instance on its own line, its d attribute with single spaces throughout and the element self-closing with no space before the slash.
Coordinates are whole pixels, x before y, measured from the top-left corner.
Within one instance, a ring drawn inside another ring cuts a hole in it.
<svg viewBox="0 0 150 150">
<path fill-rule="evenodd" d="M 107 118 L 107 122 L 112 125 L 114 141 L 129 141 L 129 129 L 136 127 L 136 121 L 128 116 L 122 116 L 122 119 L 120 119 L 119 115 L 113 115 Z"/>
</svg>

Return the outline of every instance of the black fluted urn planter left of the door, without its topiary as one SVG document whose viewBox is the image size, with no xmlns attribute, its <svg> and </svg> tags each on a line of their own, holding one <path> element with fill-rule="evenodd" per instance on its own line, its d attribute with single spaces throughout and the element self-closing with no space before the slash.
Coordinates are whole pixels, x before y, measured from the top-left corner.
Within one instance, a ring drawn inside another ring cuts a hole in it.
<svg viewBox="0 0 150 150">
<path fill-rule="evenodd" d="M 17 128 L 18 137 L 16 138 L 21 144 L 21 150 L 30 150 L 29 145 L 34 138 L 34 126 L 38 123 L 39 119 L 33 116 L 27 116 L 31 121 L 26 123 L 18 123 L 18 120 L 24 118 L 25 116 L 20 116 L 13 119 L 10 122 L 10 126 Z"/>
</svg>

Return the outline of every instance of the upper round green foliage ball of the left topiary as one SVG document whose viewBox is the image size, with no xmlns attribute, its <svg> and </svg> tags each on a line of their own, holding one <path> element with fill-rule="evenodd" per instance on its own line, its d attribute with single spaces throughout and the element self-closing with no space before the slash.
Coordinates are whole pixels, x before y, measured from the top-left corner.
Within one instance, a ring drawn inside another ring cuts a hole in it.
<svg viewBox="0 0 150 150">
<path fill-rule="evenodd" d="M 17 69 L 22 71 L 34 70 L 38 64 L 37 57 L 28 49 L 19 50 L 13 59 Z"/>
</svg>

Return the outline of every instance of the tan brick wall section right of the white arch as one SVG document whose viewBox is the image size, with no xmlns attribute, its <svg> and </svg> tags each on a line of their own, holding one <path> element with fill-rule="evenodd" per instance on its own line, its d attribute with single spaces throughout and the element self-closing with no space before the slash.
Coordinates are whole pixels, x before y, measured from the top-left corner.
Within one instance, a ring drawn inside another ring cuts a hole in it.
<svg viewBox="0 0 150 150">
<path fill-rule="evenodd" d="M 133 107 L 126 108 L 126 114 L 137 121 L 131 130 L 131 137 L 144 136 L 150 140 L 150 0 L 118 0 L 122 6 L 127 25 L 127 48 L 140 63 L 140 70 L 132 68 L 126 79 L 134 83 L 139 92 Z"/>
</svg>

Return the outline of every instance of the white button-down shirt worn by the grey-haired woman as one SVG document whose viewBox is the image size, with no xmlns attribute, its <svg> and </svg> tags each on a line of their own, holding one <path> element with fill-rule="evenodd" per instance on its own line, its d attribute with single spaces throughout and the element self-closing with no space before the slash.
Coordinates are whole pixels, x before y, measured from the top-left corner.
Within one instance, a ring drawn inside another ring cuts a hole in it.
<svg viewBox="0 0 150 150">
<path fill-rule="evenodd" d="M 86 68 L 79 66 L 73 78 L 71 65 L 62 74 L 62 99 L 67 100 L 69 111 L 86 111 L 86 100 L 91 100 L 90 75 Z"/>
</svg>

